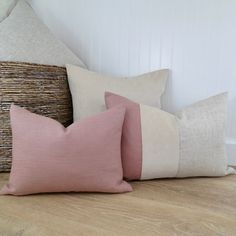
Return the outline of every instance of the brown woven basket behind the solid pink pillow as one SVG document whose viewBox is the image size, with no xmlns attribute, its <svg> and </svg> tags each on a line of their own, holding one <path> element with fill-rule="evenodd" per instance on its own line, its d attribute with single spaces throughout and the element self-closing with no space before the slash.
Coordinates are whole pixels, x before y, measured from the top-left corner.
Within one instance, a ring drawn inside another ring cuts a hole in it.
<svg viewBox="0 0 236 236">
<path fill-rule="evenodd" d="M 66 69 L 0 62 L 0 172 L 11 168 L 11 103 L 68 126 L 72 123 L 73 114 Z"/>
</svg>

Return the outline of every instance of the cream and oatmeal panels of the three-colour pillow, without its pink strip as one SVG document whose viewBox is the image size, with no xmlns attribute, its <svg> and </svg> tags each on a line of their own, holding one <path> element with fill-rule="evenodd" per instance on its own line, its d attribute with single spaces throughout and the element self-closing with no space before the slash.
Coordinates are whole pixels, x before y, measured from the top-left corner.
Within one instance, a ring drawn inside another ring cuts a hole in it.
<svg viewBox="0 0 236 236">
<path fill-rule="evenodd" d="M 227 166 L 224 131 L 227 94 L 213 96 L 176 116 L 140 105 L 141 179 L 224 176 Z"/>
</svg>

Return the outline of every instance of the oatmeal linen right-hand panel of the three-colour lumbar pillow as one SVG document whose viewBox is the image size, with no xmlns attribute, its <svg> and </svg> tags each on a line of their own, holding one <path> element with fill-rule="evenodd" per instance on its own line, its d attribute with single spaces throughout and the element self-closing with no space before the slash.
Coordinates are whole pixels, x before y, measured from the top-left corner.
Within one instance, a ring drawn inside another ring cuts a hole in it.
<svg viewBox="0 0 236 236">
<path fill-rule="evenodd" d="M 223 176 L 227 168 L 224 145 L 227 94 L 198 102 L 177 114 L 180 161 L 176 177 Z"/>
</svg>

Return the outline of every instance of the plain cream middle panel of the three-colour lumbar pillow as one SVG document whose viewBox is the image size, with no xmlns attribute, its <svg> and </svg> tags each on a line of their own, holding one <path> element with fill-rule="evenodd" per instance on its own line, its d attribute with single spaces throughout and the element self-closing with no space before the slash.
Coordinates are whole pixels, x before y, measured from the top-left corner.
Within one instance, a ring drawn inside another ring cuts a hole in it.
<svg viewBox="0 0 236 236">
<path fill-rule="evenodd" d="M 175 116 L 146 105 L 140 105 L 140 116 L 143 144 L 141 179 L 176 176 L 179 130 Z"/>
</svg>

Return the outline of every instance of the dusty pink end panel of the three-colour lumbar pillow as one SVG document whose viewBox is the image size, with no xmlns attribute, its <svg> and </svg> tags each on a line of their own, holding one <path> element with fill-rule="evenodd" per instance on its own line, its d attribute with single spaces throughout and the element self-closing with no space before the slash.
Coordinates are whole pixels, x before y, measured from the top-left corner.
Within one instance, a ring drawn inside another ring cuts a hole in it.
<svg viewBox="0 0 236 236">
<path fill-rule="evenodd" d="M 106 92 L 107 108 L 117 105 L 126 108 L 121 142 L 121 156 L 124 178 L 140 179 L 142 171 L 142 134 L 139 104 L 119 95 Z"/>
</svg>

